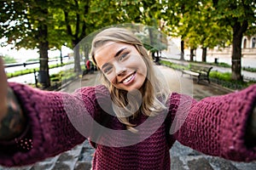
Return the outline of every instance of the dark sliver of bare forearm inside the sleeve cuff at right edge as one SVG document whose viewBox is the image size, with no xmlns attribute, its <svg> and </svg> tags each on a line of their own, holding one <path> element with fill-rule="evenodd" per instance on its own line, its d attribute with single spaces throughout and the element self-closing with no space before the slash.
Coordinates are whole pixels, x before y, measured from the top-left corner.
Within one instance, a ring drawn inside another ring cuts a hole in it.
<svg viewBox="0 0 256 170">
<path fill-rule="evenodd" d="M 247 146 L 253 147 L 256 145 L 256 104 L 254 104 L 253 113 L 248 118 L 245 138 Z"/>
</svg>

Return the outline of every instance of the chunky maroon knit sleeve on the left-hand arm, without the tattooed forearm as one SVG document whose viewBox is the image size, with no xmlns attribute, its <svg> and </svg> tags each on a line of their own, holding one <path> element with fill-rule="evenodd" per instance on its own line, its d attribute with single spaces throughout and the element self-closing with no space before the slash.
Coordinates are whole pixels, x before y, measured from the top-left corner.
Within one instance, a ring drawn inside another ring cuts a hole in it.
<svg viewBox="0 0 256 170">
<path fill-rule="evenodd" d="M 42 91 L 18 83 L 9 83 L 9 86 L 20 101 L 27 128 L 13 141 L 0 141 L 1 165 L 29 165 L 70 150 L 84 141 L 84 136 L 70 119 L 83 114 L 95 116 L 94 88 L 81 88 L 67 94 Z"/>
</svg>

